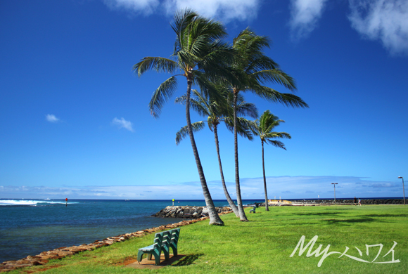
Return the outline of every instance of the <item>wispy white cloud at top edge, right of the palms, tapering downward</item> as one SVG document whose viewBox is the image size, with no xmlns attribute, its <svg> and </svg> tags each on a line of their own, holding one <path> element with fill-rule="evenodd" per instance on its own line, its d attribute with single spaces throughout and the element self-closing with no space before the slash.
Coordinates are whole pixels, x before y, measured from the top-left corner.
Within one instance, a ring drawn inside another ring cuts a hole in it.
<svg viewBox="0 0 408 274">
<path fill-rule="evenodd" d="M 327 0 L 291 0 L 291 36 L 298 40 L 314 30 Z"/>
</svg>

